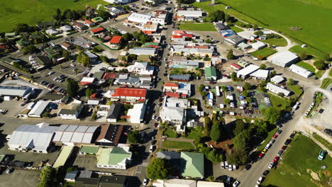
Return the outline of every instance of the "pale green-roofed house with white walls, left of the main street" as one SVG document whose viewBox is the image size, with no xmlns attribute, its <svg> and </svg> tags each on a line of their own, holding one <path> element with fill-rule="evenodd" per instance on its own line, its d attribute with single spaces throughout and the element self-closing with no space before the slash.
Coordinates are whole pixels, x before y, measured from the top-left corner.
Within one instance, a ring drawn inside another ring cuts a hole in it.
<svg viewBox="0 0 332 187">
<path fill-rule="evenodd" d="M 101 148 L 97 167 L 109 169 L 127 169 L 131 164 L 132 153 L 129 147 Z"/>
</svg>

